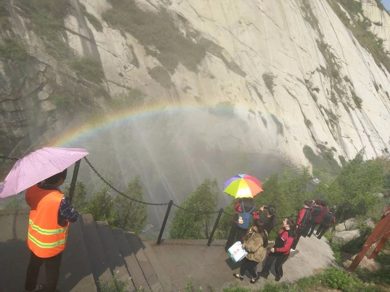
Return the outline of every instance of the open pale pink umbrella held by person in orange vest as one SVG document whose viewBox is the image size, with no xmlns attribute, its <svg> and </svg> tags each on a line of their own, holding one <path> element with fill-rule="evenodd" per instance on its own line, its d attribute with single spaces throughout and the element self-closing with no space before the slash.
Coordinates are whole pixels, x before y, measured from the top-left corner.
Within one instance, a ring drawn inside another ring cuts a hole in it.
<svg viewBox="0 0 390 292">
<path fill-rule="evenodd" d="M 0 185 L 0 198 L 6 198 L 39 183 L 89 154 L 81 148 L 43 147 L 19 159 Z"/>
</svg>

